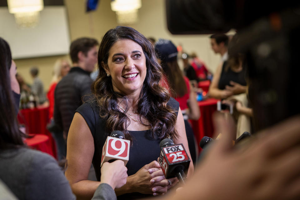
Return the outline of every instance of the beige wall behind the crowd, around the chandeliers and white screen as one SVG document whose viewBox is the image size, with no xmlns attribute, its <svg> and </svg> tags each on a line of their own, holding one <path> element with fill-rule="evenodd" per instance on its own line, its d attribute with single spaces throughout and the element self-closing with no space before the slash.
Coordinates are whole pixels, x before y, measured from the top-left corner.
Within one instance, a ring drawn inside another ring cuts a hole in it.
<svg viewBox="0 0 300 200">
<path fill-rule="evenodd" d="M 118 24 L 116 14 L 110 8 L 110 0 L 102 0 L 95 12 L 85 12 L 85 0 L 65 0 L 68 10 L 71 41 L 78 37 L 94 37 L 101 41 L 105 32 Z M 215 55 L 209 44 L 208 35 L 172 35 L 167 30 L 164 0 L 142 0 L 142 8 L 139 9 L 139 21 L 131 25 L 146 37 L 171 39 L 175 45 L 181 44 L 187 53 L 196 52 L 199 58 L 214 72 L 220 57 Z M 37 66 L 40 70 L 40 78 L 47 91 L 52 79 L 52 68 L 56 59 L 64 57 L 52 56 L 42 58 L 18 59 L 18 73 L 26 82 L 32 83 L 29 69 Z"/>
</svg>

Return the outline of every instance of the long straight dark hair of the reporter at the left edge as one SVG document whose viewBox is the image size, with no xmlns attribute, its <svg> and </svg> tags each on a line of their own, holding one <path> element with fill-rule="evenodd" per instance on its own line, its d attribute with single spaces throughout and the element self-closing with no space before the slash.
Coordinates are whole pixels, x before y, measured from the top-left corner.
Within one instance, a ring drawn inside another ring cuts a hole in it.
<svg viewBox="0 0 300 200">
<path fill-rule="evenodd" d="M 23 146 L 18 128 L 9 69 L 12 54 L 8 43 L 0 37 L 0 149 Z"/>
</svg>

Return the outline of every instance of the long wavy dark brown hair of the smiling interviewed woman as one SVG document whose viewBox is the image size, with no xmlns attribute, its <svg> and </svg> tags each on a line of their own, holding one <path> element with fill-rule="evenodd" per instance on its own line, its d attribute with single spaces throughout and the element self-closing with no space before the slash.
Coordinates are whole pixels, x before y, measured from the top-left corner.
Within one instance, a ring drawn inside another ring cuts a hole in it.
<svg viewBox="0 0 300 200">
<path fill-rule="evenodd" d="M 118 26 L 105 33 L 98 52 L 98 78 L 92 84 L 92 93 L 95 95 L 100 117 L 105 121 L 105 131 L 113 130 L 124 132 L 125 138 L 132 140 L 127 130 L 130 119 L 118 109 L 117 98 L 125 102 L 125 110 L 128 111 L 128 99 L 123 93 L 113 90 L 111 77 L 108 77 L 102 65 L 108 64 L 109 50 L 115 42 L 122 39 L 130 39 L 138 43 L 146 57 L 147 74 L 139 96 L 138 113 L 140 119 L 148 120 L 153 137 L 160 139 L 171 136 L 178 137 L 175 128 L 176 112 L 167 105 L 170 94 L 166 88 L 161 86 L 163 69 L 157 61 L 157 56 L 151 42 L 141 33 L 131 27 Z"/>
</svg>

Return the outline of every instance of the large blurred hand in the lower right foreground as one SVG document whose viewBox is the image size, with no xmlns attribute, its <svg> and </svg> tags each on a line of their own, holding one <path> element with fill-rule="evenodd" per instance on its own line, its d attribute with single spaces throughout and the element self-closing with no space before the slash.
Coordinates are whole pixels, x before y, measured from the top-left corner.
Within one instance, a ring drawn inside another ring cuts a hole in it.
<svg viewBox="0 0 300 200">
<path fill-rule="evenodd" d="M 232 125 L 217 119 L 224 138 L 211 146 L 187 184 L 162 199 L 299 199 L 300 117 L 257 133 L 247 148 L 233 148 Z"/>
</svg>

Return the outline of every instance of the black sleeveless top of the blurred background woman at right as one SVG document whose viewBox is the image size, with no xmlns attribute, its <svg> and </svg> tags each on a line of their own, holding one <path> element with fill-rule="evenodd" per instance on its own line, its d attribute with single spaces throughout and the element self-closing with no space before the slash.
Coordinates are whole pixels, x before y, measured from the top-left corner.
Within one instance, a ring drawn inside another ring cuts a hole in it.
<svg viewBox="0 0 300 200">
<path fill-rule="evenodd" d="M 218 88 L 220 90 L 224 90 L 226 85 L 232 86 L 230 84 L 230 81 L 233 81 L 233 82 L 239 83 L 243 86 L 246 86 L 247 83 L 246 83 L 246 79 L 245 79 L 245 73 L 246 73 L 245 67 L 243 66 L 242 71 L 240 71 L 240 72 L 233 72 L 231 70 L 231 68 L 228 68 L 226 71 L 225 70 L 226 65 L 227 65 L 227 62 L 224 62 L 223 66 L 222 66 L 220 80 L 218 83 Z"/>
</svg>

